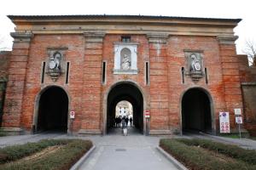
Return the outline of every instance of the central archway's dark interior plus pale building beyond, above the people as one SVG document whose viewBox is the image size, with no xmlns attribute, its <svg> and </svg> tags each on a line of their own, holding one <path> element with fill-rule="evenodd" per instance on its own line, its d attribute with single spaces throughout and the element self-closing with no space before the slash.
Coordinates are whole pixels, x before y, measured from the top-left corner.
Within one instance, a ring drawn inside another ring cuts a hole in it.
<svg viewBox="0 0 256 170">
<path fill-rule="evenodd" d="M 133 84 L 119 83 L 108 94 L 107 133 L 115 127 L 116 116 L 129 116 L 133 126 L 143 133 L 143 94 Z"/>
</svg>

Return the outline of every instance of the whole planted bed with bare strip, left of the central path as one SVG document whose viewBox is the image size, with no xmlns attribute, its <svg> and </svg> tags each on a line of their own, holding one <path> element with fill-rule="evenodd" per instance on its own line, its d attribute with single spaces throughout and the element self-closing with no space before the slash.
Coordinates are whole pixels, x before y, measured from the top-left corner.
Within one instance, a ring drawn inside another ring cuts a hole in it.
<svg viewBox="0 0 256 170">
<path fill-rule="evenodd" d="M 69 169 L 90 148 L 89 140 L 44 139 L 0 149 L 0 169 Z"/>
</svg>

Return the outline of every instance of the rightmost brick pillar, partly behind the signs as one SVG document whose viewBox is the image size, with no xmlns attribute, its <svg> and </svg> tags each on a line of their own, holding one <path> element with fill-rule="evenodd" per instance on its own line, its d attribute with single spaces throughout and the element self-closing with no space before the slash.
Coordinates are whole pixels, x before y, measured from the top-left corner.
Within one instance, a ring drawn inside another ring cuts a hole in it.
<svg viewBox="0 0 256 170">
<path fill-rule="evenodd" d="M 219 55 L 224 81 L 224 100 L 226 111 L 230 112 L 230 129 L 233 129 L 233 131 L 236 130 L 234 109 L 242 109 L 239 60 L 236 55 L 235 45 L 236 39 L 237 37 L 218 37 Z M 219 126 L 217 126 L 218 128 Z"/>
</svg>

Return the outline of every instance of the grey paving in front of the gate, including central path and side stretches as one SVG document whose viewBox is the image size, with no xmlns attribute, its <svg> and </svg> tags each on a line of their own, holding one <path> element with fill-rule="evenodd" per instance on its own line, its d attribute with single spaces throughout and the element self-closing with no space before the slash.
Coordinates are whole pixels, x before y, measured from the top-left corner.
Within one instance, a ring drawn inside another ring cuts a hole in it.
<svg viewBox="0 0 256 170">
<path fill-rule="evenodd" d="M 80 169 L 177 169 L 173 166 L 172 162 L 167 160 L 165 156 L 161 155 L 155 149 L 161 137 L 144 136 L 133 128 L 129 128 L 128 132 L 128 136 L 124 136 L 120 128 L 115 128 L 106 136 L 76 137 L 69 136 L 67 133 L 7 136 L 0 137 L 0 147 L 36 142 L 40 139 L 90 139 L 96 145 L 96 150 L 84 161 Z M 237 144 L 243 148 L 256 150 L 256 141 L 252 139 L 229 139 L 201 134 L 187 134 L 173 137 L 212 139 L 218 142 Z"/>
</svg>

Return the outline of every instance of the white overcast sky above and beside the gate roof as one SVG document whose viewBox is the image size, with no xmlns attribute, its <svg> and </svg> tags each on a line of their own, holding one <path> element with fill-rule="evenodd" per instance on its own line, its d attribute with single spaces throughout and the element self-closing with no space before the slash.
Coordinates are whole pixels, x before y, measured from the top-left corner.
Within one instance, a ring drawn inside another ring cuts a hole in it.
<svg viewBox="0 0 256 170">
<path fill-rule="evenodd" d="M 4 2 L 3 2 L 4 1 Z M 9 32 L 15 25 L 8 14 L 141 14 L 204 18 L 242 19 L 236 27 L 237 53 L 245 40 L 256 41 L 256 1 L 254 0 L 3 0 L 0 8 L 0 48 L 11 48 Z"/>
</svg>

